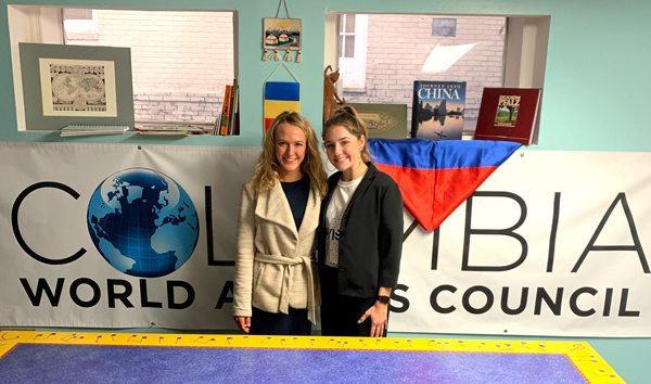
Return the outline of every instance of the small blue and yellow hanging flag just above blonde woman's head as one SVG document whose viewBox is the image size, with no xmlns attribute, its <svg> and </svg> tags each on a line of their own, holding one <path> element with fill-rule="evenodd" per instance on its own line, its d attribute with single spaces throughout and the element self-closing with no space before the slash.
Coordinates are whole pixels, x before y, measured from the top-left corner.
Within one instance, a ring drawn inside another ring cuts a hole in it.
<svg viewBox="0 0 651 384">
<path fill-rule="evenodd" d="M 271 76 L 283 66 L 290 75 L 296 80 L 292 81 L 269 81 Z M 288 68 L 284 63 L 278 64 L 276 69 L 265 80 L 264 91 L 264 117 L 265 117 L 265 132 L 271 126 L 271 123 L 276 116 L 282 112 L 290 111 L 301 113 L 301 82 L 294 76 L 294 74 Z"/>
</svg>

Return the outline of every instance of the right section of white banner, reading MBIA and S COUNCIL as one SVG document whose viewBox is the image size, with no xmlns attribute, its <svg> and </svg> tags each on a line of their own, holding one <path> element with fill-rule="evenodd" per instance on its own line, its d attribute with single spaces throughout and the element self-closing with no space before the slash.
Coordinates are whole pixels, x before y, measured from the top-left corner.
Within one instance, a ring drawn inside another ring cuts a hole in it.
<svg viewBox="0 0 651 384">
<path fill-rule="evenodd" d="M 515 152 L 438 231 L 408 234 L 390 330 L 650 336 L 650 162 Z"/>
</svg>

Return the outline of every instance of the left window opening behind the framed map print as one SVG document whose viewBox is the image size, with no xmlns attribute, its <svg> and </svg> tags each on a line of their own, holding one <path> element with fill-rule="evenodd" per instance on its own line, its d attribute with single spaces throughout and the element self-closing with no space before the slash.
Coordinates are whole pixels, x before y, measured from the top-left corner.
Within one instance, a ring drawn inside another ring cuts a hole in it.
<svg viewBox="0 0 651 384">
<path fill-rule="evenodd" d="M 237 77 L 235 12 L 31 5 L 10 5 L 10 9 L 12 47 L 14 42 L 17 47 L 18 41 L 129 47 L 137 126 L 213 126 L 221 113 L 225 87 Z M 44 13 L 53 16 L 43 17 Z M 48 27 L 55 33 L 22 31 L 27 29 L 23 27 L 26 14 L 31 15 L 31 30 L 36 25 L 37 29 Z M 13 55 L 17 52 L 12 52 Z M 22 94 L 18 98 L 16 93 L 16 100 L 22 101 Z M 18 127 L 29 129 L 24 121 L 23 127 L 18 121 Z"/>
</svg>

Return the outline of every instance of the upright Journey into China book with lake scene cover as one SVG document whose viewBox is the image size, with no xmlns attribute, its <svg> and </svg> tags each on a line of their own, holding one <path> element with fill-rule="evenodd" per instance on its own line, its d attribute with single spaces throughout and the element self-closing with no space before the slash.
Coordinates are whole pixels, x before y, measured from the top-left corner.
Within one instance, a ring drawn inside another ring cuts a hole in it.
<svg viewBox="0 0 651 384">
<path fill-rule="evenodd" d="M 465 81 L 413 81 L 411 137 L 461 140 Z"/>
</svg>

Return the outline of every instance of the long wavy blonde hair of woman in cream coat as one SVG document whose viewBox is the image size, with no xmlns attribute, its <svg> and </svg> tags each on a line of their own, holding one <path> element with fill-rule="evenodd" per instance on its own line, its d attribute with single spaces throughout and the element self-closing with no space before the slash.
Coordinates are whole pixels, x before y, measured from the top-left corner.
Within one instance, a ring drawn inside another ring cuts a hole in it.
<svg viewBox="0 0 651 384">
<path fill-rule="evenodd" d="M 263 153 L 255 165 L 255 171 L 251 178 L 251 185 L 257 193 L 268 194 L 280 180 L 280 165 L 276 158 L 276 130 L 278 126 L 286 123 L 301 128 L 307 140 L 305 158 L 301 163 L 301 171 L 309 176 L 310 182 L 317 187 L 321 197 L 328 193 L 326 171 L 321 164 L 317 133 L 307 118 L 296 112 L 283 112 L 278 115 L 263 139 Z"/>
</svg>

